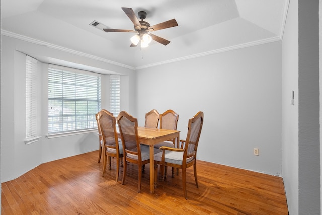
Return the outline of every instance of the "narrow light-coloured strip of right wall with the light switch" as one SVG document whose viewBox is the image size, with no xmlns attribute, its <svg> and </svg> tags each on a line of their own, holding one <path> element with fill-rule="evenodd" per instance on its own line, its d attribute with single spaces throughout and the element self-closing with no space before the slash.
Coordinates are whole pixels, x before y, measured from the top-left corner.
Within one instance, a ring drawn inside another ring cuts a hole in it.
<svg viewBox="0 0 322 215">
<path fill-rule="evenodd" d="M 282 40 L 283 180 L 290 214 L 298 214 L 298 2 L 290 1 Z M 295 103 L 291 105 L 291 91 Z"/>
</svg>

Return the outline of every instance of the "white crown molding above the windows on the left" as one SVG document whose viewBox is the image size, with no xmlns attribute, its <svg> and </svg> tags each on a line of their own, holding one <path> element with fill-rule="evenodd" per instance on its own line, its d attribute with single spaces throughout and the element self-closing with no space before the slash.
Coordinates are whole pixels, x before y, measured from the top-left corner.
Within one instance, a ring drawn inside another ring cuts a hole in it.
<svg viewBox="0 0 322 215">
<path fill-rule="evenodd" d="M 1 30 L 1 34 L 4 35 L 4 36 L 16 38 L 16 39 L 23 40 L 23 41 L 26 41 L 26 42 L 31 42 L 31 43 L 34 43 L 34 44 L 37 44 L 37 45 L 47 46 L 48 48 L 56 49 L 56 50 L 59 50 L 59 51 L 64 51 L 64 52 L 75 54 L 75 55 L 78 55 L 78 56 L 87 57 L 87 58 L 90 58 L 90 59 L 93 59 L 93 60 L 98 60 L 98 61 L 109 63 L 109 64 L 112 64 L 112 65 L 117 65 L 117 66 L 120 66 L 120 67 L 123 67 L 123 68 L 128 68 L 128 69 L 131 69 L 131 70 L 135 70 L 135 68 L 133 66 L 125 65 L 125 64 L 118 63 L 118 62 L 115 62 L 115 61 L 112 61 L 112 60 L 107 60 L 107 59 L 97 57 L 97 56 L 94 56 L 94 55 L 91 55 L 91 54 L 86 54 L 84 52 L 75 51 L 75 50 L 72 50 L 72 49 L 69 49 L 69 48 L 65 48 L 65 47 L 62 47 L 62 46 L 47 43 L 47 42 L 37 40 L 37 39 L 31 38 L 31 37 L 16 34 L 16 33 L 10 32 L 10 31 Z"/>
</svg>

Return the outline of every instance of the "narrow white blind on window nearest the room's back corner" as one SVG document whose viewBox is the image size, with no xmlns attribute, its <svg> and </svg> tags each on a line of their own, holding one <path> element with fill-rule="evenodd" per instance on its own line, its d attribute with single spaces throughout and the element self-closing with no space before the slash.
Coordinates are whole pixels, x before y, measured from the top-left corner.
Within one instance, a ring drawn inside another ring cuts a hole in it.
<svg viewBox="0 0 322 215">
<path fill-rule="evenodd" d="M 120 76 L 110 75 L 110 112 L 119 115 L 120 106 Z"/>
</svg>

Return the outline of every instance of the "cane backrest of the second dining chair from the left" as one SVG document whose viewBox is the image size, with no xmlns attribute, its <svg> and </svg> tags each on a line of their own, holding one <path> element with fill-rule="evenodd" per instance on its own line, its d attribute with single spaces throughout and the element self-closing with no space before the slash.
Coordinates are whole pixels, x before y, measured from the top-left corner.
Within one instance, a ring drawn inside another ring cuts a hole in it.
<svg viewBox="0 0 322 215">
<path fill-rule="evenodd" d="M 137 131 L 137 118 L 134 118 L 126 111 L 121 111 L 117 117 L 117 123 L 121 134 L 124 156 L 135 157 L 140 161 L 141 150 Z"/>
</svg>

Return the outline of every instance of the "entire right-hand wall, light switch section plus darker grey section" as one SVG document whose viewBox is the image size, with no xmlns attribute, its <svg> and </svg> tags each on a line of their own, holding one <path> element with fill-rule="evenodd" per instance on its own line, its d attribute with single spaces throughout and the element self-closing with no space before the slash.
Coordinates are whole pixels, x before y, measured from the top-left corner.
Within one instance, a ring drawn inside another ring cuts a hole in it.
<svg viewBox="0 0 322 215">
<path fill-rule="evenodd" d="M 283 179 L 292 215 L 320 213 L 318 8 L 291 0 L 282 40 Z"/>
</svg>

